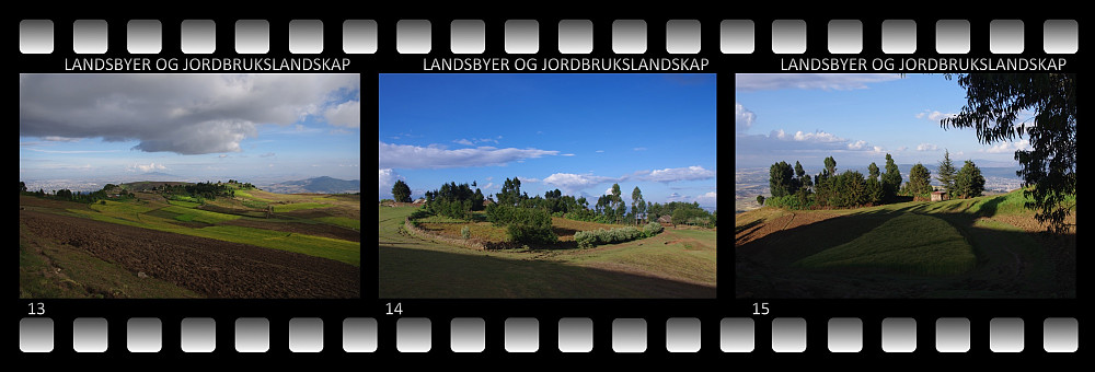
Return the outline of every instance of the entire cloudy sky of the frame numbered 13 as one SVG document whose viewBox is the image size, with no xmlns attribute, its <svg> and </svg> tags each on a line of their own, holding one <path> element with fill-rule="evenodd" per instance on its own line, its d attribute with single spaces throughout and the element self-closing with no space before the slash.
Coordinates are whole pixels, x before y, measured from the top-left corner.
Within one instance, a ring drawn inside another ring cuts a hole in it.
<svg viewBox="0 0 1095 372">
<path fill-rule="evenodd" d="M 21 74 L 20 179 L 360 179 L 360 123 L 357 74 Z"/>
</svg>

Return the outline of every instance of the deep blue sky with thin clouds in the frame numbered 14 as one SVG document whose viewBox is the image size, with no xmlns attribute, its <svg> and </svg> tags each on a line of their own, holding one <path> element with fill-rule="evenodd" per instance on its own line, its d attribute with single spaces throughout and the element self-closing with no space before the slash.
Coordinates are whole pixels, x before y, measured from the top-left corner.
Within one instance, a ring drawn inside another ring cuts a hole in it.
<svg viewBox="0 0 1095 372">
<path fill-rule="evenodd" d="M 379 198 L 403 179 L 529 196 L 558 188 L 596 202 L 716 206 L 714 74 L 381 74 Z"/>
</svg>

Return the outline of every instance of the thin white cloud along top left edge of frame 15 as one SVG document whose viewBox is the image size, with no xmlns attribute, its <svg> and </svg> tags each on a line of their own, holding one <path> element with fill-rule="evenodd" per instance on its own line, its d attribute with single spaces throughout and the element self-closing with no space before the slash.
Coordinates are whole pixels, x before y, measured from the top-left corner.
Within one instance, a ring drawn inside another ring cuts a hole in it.
<svg viewBox="0 0 1095 372">
<path fill-rule="evenodd" d="M 866 89 L 868 84 L 900 79 L 896 73 L 739 73 L 735 89 L 740 91 L 769 91 L 782 89 L 820 89 L 845 91 Z"/>
</svg>

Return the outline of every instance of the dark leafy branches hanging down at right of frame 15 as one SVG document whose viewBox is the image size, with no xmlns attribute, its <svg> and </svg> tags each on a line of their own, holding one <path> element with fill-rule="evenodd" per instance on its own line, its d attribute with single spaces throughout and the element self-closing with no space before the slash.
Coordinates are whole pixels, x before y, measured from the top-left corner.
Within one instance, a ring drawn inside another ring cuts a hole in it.
<svg viewBox="0 0 1095 372">
<path fill-rule="evenodd" d="M 947 74 L 947 79 L 955 75 Z M 1016 150 L 1017 175 L 1048 229 L 1064 232 L 1076 193 L 1076 75 L 1073 73 L 957 74 L 966 89 L 966 106 L 944 118 L 943 128 L 973 128 L 989 144 L 1026 136 L 1030 150 Z M 1027 117 L 1027 113 L 1034 113 Z M 1071 201 L 1068 201 L 1071 200 Z"/>
</svg>

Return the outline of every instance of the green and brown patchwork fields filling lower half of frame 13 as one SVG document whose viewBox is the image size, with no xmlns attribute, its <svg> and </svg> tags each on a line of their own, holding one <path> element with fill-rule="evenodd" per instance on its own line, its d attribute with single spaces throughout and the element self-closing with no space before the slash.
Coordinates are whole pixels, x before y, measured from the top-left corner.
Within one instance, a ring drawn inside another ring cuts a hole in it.
<svg viewBox="0 0 1095 372">
<path fill-rule="evenodd" d="M 357 195 L 20 197 L 24 298 L 359 298 L 360 251 Z"/>
</svg>

